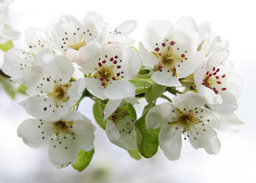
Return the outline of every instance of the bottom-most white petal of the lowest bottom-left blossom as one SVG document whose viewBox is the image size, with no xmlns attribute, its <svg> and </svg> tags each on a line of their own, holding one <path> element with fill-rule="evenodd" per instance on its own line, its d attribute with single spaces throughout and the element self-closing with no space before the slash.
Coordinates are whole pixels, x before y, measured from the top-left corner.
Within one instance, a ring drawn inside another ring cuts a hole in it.
<svg viewBox="0 0 256 183">
<path fill-rule="evenodd" d="M 61 143 L 60 143 L 61 142 Z M 78 148 L 71 136 L 54 139 L 48 149 L 48 159 L 56 168 L 64 168 L 77 162 Z"/>
</svg>

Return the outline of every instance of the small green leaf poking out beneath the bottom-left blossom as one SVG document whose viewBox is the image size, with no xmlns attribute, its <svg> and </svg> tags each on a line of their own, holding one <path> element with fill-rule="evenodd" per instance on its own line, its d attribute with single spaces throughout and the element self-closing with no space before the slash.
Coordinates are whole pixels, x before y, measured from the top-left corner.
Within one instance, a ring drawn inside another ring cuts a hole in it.
<svg viewBox="0 0 256 183">
<path fill-rule="evenodd" d="M 94 149 L 85 152 L 79 149 L 77 162 L 72 165 L 74 169 L 77 169 L 79 172 L 83 171 L 90 164 L 90 160 L 94 156 Z"/>
</svg>

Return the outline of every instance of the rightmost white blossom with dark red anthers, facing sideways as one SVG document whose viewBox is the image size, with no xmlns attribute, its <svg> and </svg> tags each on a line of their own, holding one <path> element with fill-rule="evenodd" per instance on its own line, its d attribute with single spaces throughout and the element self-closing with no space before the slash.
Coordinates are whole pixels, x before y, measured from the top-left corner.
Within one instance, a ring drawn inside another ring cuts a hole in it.
<svg viewBox="0 0 256 183">
<path fill-rule="evenodd" d="M 220 114 L 231 114 L 238 108 L 243 88 L 240 77 L 225 69 L 227 57 L 225 48 L 212 51 L 194 75 L 197 91 L 207 98 L 208 107 Z"/>
</svg>

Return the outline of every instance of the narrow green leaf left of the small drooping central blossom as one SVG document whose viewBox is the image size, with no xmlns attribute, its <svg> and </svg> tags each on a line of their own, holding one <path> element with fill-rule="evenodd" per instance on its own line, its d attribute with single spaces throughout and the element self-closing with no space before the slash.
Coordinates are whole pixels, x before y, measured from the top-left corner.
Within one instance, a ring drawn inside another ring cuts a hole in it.
<svg viewBox="0 0 256 183">
<path fill-rule="evenodd" d="M 103 128 L 103 130 L 106 130 L 106 124 L 107 124 L 107 120 L 103 120 L 104 108 L 106 104 L 107 104 L 106 101 L 101 101 L 97 99 L 97 101 L 94 103 L 94 106 L 93 106 L 94 118 L 97 124 L 99 124 L 100 127 Z"/>
</svg>

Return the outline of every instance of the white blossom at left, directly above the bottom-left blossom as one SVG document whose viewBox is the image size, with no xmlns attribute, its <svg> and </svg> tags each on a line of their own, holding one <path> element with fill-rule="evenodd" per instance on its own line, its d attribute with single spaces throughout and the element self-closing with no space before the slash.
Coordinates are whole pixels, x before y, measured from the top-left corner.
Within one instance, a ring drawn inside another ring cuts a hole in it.
<svg viewBox="0 0 256 183">
<path fill-rule="evenodd" d="M 61 117 L 80 98 L 84 80 L 70 82 L 74 66 L 66 56 L 44 54 L 40 59 L 41 66 L 33 66 L 24 79 L 30 97 L 20 104 L 33 117 Z"/>
</svg>

